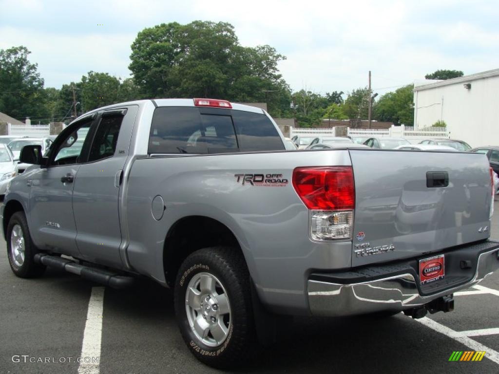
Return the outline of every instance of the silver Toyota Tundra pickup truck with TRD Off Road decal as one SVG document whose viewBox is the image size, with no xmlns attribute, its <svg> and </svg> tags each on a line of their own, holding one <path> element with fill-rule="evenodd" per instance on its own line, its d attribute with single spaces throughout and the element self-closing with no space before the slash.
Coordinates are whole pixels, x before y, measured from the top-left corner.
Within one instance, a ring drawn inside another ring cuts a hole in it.
<svg viewBox="0 0 499 374">
<path fill-rule="evenodd" d="M 261 109 L 160 99 L 94 110 L 20 161 L 2 206 L 12 271 L 171 287 L 214 367 L 271 341 L 280 316 L 447 312 L 499 267 L 481 154 L 285 151 Z"/>
</svg>

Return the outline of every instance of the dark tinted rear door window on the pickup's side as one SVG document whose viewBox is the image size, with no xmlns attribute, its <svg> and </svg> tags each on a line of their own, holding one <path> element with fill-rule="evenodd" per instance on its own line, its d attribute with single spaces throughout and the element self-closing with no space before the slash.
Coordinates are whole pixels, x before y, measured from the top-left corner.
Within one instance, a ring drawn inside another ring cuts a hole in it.
<svg viewBox="0 0 499 374">
<path fill-rule="evenodd" d="M 90 148 L 89 162 L 114 155 L 122 121 L 123 116 L 121 114 L 102 116 Z"/>
</svg>

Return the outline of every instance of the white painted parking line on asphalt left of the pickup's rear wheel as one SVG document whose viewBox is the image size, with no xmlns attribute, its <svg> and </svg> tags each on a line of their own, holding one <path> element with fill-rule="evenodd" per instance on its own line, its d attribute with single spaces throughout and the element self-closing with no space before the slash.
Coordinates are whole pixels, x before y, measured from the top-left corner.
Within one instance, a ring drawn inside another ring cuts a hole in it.
<svg viewBox="0 0 499 374">
<path fill-rule="evenodd" d="M 104 289 L 105 287 L 92 287 L 80 354 L 83 360 L 78 367 L 78 374 L 99 374 Z M 89 362 L 84 362 L 85 360 Z"/>
</svg>

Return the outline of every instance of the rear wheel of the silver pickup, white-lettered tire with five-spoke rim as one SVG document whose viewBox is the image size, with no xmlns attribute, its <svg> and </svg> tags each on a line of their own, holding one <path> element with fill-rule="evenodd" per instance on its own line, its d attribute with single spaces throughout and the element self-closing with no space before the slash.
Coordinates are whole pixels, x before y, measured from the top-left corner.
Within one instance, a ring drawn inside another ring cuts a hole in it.
<svg viewBox="0 0 499 374">
<path fill-rule="evenodd" d="M 250 274 L 236 248 L 204 248 L 185 259 L 175 283 L 175 314 L 198 360 L 226 369 L 254 352 L 250 290 Z"/>
</svg>

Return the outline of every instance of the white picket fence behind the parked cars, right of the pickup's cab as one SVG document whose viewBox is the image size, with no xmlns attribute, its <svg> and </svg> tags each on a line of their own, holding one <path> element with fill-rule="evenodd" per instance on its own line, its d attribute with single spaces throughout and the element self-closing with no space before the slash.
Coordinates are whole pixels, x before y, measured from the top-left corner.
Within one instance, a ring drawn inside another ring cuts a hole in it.
<svg viewBox="0 0 499 374">
<path fill-rule="evenodd" d="M 450 133 L 443 127 L 427 127 L 424 129 L 414 130 L 411 126 L 392 126 L 388 129 L 347 129 L 348 136 L 362 137 L 394 137 L 406 138 L 410 140 L 423 140 L 427 138 L 450 138 Z M 312 127 L 301 127 L 289 129 L 289 136 L 335 136 L 335 128 L 323 129 Z"/>
</svg>

